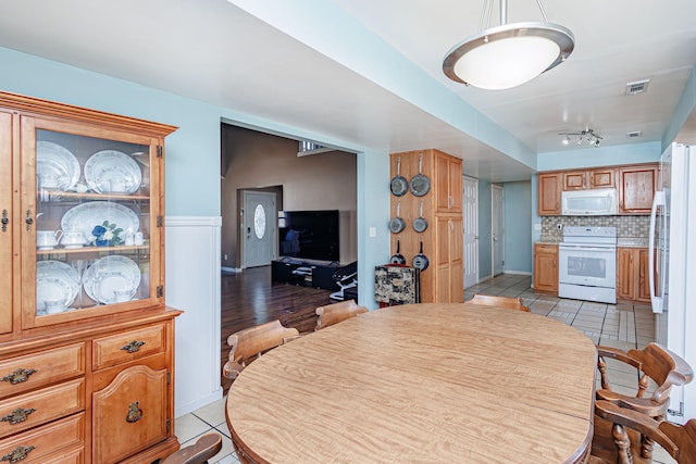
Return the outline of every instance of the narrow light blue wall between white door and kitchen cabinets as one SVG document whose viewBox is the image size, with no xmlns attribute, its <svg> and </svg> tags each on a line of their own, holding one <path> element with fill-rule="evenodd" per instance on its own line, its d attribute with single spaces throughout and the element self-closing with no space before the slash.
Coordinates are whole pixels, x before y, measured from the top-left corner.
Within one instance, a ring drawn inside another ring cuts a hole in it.
<svg viewBox="0 0 696 464">
<path fill-rule="evenodd" d="M 532 273 L 532 183 L 505 183 L 505 272 Z"/>
</svg>

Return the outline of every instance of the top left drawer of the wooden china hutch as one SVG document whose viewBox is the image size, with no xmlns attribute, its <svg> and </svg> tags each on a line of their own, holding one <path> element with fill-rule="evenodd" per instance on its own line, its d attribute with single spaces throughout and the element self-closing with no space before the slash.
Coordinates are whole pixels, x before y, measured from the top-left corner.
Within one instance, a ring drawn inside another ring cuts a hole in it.
<svg viewBox="0 0 696 464">
<path fill-rule="evenodd" d="M 0 361 L 0 398 L 85 375 L 85 344 Z"/>
</svg>

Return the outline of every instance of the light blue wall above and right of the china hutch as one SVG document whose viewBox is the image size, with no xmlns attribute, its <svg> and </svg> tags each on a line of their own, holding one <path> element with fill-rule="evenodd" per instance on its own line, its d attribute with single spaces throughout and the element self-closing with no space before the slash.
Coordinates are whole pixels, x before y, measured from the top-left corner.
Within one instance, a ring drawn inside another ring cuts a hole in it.
<svg viewBox="0 0 696 464">
<path fill-rule="evenodd" d="M 0 48 L 0 89 L 178 127 L 166 139 L 166 214 L 220 215 L 220 110 Z"/>
</svg>

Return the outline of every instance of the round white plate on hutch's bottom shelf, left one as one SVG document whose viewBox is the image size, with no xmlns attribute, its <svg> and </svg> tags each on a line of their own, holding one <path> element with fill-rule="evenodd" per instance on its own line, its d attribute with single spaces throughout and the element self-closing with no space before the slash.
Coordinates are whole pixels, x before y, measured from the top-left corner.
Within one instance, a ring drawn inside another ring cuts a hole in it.
<svg viewBox="0 0 696 464">
<path fill-rule="evenodd" d="M 45 311 L 46 302 L 62 302 L 63 308 L 73 304 L 79 291 L 79 275 L 60 261 L 36 263 L 36 310 Z"/>
</svg>

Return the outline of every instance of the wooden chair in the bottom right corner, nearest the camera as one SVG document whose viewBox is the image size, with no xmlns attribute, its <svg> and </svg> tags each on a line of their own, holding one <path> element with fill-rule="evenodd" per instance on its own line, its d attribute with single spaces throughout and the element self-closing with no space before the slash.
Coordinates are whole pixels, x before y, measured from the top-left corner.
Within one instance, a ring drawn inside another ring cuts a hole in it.
<svg viewBox="0 0 696 464">
<path fill-rule="evenodd" d="M 618 451 L 618 464 L 638 464 L 643 457 L 635 456 L 631 451 L 631 439 L 627 429 L 636 430 L 658 442 L 680 464 L 696 464 L 696 419 L 688 421 L 684 426 L 667 421 L 656 421 L 637 411 L 621 407 L 606 400 L 595 403 L 595 414 L 612 424 L 612 436 Z M 606 461 L 592 455 L 591 464 Z M 647 461 L 649 462 L 649 461 Z"/>
</svg>

